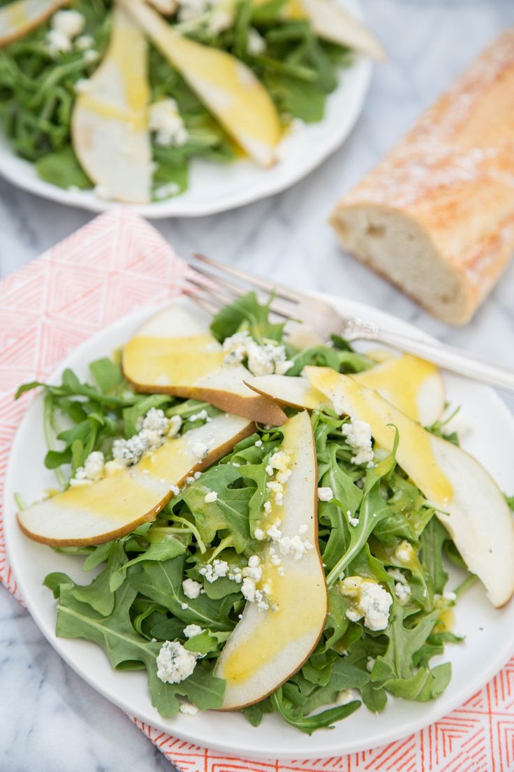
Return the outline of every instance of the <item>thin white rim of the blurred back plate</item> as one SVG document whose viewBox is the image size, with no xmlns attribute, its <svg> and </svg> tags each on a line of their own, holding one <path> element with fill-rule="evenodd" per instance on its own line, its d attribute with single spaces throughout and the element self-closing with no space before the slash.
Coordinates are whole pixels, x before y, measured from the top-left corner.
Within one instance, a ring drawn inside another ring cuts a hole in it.
<svg viewBox="0 0 514 772">
<path fill-rule="evenodd" d="M 352 12 L 362 19 L 362 9 L 360 0 L 336 0 L 336 2 L 342 2 L 343 5 L 348 6 Z M 270 198 L 270 196 L 276 195 L 283 191 L 288 190 L 300 182 L 308 174 L 311 174 L 317 167 L 321 166 L 330 157 L 338 147 L 348 139 L 351 131 L 361 115 L 362 109 L 365 103 L 365 97 L 368 93 L 371 83 L 371 73 L 373 69 L 373 63 L 367 56 L 363 56 L 358 53 L 354 53 L 354 60 L 348 69 L 341 69 L 340 82 L 338 87 L 333 93 L 328 95 L 328 100 L 338 93 L 340 88 L 344 88 L 342 83 L 344 73 L 351 73 L 351 77 L 355 81 L 354 85 L 354 98 L 351 100 L 351 110 L 344 113 L 340 122 L 340 128 L 334 132 L 332 137 L 329 137 L 324 144 L 317 145 L 311 143 L 311 152 L 309 154 L 303 154 L 306 159 L 305 163 L 297 171 L 291 171 L 285 177 L 277 178 L 263 178 L 262 183 L 257 183 L 253 187 L 250 186 L 242 193 L 232 193 L 225 198 L 219 196 L 213 196 L 209 203 L 203 203 L 201 201 L 183 201 L 183 196 L 178 195 L 176 198 L 170 198 L 166 201 L 151 201 L 149 204 L 129 204 L 121 201 L 102 201 L 92 194 L 92 191 L 68 191 L 64 188 L 59 188 L 57 185 L 40 179 L 35 174 L 34 164 L 30 161 L 18 157 L 12 152 L 10 147 L 3 151 L 0 147 L 0 176 L 8 180 L 16 188 L 37 195 L 39 198 L 45 198 L 47 201 L 55 201 L 59 204 L 66 206 L 76 206 L 81 209 L 85 209 L 88 212 L 110 212 L 113 209 L 123 206 L 128 208 L 136 215 L 141 215 L 148 219 L 163 219 L 163 218 L 176 218 L 176 217 L 207 217 L 210 215 L 216 215 L 220 212 L 231 212 L 233 209 L 246 206 L 254 203 L 255 201 L 261 201 L 264 198 Z M 318 121 L 316 124 L 306 124 L 306 130 L 310 126 L 317 127 L 324 124 L 327 120 L 326 117 Z M 8 137 L 0 131 L 2 142 L 8 143 Z M 19 177 L 20 168 L 27 168 L 28 171 Z M 34 172 L 33 176 L 29 168 L 32 168 Z M 220 165 L 220 177 L 223 175 L 223 166 Z M 257 188 L 257 189 L 256 189 Z"/>
</svg>

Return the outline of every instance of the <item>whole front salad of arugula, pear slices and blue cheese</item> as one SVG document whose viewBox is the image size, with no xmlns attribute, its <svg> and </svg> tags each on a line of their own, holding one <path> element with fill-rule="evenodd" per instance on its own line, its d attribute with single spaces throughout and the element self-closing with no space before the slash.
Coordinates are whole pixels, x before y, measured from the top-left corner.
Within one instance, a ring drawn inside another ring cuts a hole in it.
<svg viewBox="0 0 514 772">
<path fill-rule="evenodd" d="M 89 371 L 18 390 L 43 388 L 57 483 L 19 492 L 18 523 L 82 560 L 83 584 L 45 578 L 56 635 L 146 669 L 162 716 L 313 733 L 436 699 L 459 598 L 512 596 L 514 501 L 460 449 L 432 364 L 304 347 L 250 293 L 213 319 L 174 301 Z"/>
</svg>

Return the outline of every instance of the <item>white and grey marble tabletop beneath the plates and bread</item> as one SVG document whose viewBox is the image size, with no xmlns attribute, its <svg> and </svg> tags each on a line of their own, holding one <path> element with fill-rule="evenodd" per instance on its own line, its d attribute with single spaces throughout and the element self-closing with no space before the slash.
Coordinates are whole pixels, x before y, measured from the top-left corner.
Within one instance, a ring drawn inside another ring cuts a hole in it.
<svg viewBox="0 0 514 772">
<path fill-rule="evenodd" d="M 391 59 L 375 70 L 353 134 L 290 191 L 223 215 L 157 221 L 192 250 L 305 289 L 339 293 L 415 323 L 445 342 L 514 367 L 514 264 L 464 329 L 429 317 L 338 247 L 327 215 L 401 137 L 459 70 L 514 24 L 512 0 L 362 0 Z M 0 276 L 88 222 L 78 209 L 0 180 Z M 502 395 L 511 409 L 514 396 Z M 119 709 L 55 654 L 22 607 L 0 588 L 0 772 L 168 770 L 170 764 Z"/>
</svg>

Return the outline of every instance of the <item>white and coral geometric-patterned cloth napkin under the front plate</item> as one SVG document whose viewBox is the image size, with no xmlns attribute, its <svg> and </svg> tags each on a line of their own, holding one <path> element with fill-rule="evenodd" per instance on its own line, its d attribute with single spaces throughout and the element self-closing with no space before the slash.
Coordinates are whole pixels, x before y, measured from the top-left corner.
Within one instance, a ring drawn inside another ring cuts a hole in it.
<svg viewBox="0 0 514 772">
<path fill-rule="evenodd" d="M 9 449 L 31 395 L 82 340 L 134 308 L 180 294 L 186 264 L 147 222 L 123 209 L 102 215 L 0 283 L 0 499 Z M 0 579 L 22 601 L 5 557 Z M 133 719 L 187 772 L 509 772 L 514 770 L 514 659 L 465 705 L 388 746 L 330 759 L 227 757 Z"/>
</svg>

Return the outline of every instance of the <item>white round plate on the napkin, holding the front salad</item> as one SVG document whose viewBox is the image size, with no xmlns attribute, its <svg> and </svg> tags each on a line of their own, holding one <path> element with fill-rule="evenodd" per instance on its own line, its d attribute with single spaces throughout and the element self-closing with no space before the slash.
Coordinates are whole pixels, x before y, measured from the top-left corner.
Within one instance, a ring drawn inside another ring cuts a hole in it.
<svg viewBox="0 0 514 772">
<path fill-rule="evenodd" d="M 400 333 L 420 335 L 411 325 L 368 306 L 341 298 L 328 300 L 343 313 L 369 318 Z M 64 367 L 72 367 L 79 377 L 87 378 L 90 361 L 111 354 L 155 311 L 155 308 L 138 310 L 102 330 L 66 358 L 52 381 L 60 379 Z M 465 448 L 489 469 L 502 489 L 512 493 L 512 415 L 490 388 L 451 376 L 445 377 L 445 383 L 448 399 L 454 405 L 462 404 L 472 423 L 472 434 L 466 438 Z M 83 679 L 126 713 L 163 732 L 245 757 L 302 759 L 354 753 L 398 740 L 445 716 L 489 681 L 512 655 L 514 602 L 505 608 L 492 608 L 482 586 L 477 583 L 455 608 L 455 632 L 465 635 L 465 642 L 448 645 L 444 657 L 440 658 L 440 661 L 452 662 L 453 676 L 445 693 L 432 703 L 390 699 L 381 715 L 369 713 L 361 706 L 334 730 L 320 730 L 313 736 L 287 726 L 277 715 L 264 716 L 257 728 L 250 726 L 238 713 L 180 714 L 173 720 L 163 719 L 150 703 L 146 673 L 116 672 L 96 645 L 55 637 L 55 601 L 52 593 L 42 586 L 43 578 L 50 571 L 64 571 L 74 580 L 87 584 L 91 574 L 82 572 L 82 558 L 55 553 L 49 547 L 29 540 L 17 527 L 14 494 L 22 493 L 25 501 L 30 502 L 39 491 L 55 485 L 52 473 L 45 470 L 42 463 L 45 450 L 42 398 L 39 395 L 32 401 L 18 429 L 5 479 L 5 540 L 8 560 L 22 597 L 42 633 Z M 448 587 L 455 586 L 458 581 L 458 575 L 454 574 Z"/>
</svg>

